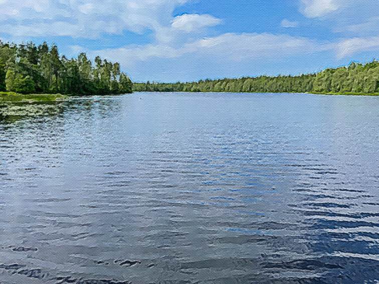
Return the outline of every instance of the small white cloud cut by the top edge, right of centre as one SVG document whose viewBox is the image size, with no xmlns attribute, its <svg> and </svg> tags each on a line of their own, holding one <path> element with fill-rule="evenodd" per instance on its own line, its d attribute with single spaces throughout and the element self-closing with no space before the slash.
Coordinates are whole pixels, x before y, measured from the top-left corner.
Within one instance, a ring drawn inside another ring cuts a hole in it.
<svg viewBox="0 0 379 284">
<path fill-rule="evenodd" d="M 318 18 L 340 8 L 337 0 L 301 0 L 301 12 L 308 18 Z"/>
</svg>

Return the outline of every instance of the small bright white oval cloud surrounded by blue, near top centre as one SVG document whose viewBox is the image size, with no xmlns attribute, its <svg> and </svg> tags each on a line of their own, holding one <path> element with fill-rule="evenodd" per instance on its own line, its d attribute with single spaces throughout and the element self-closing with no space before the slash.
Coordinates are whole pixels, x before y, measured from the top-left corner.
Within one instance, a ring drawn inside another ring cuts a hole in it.
<svg viewBox="0 0 379 284">
<path fill-rule="evenodd" d="M 172 20 L 171 27 L 175 30 L 191 33 L 219 24 L 221 24 L 221 20 L 211 15 L 183 14 Z"/>
</svg>

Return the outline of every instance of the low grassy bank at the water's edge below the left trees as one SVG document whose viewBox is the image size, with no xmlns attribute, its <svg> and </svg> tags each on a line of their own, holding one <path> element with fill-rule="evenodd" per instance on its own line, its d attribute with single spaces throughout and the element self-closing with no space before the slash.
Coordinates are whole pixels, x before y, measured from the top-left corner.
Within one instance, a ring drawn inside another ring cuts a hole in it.
<svg viewBox="0 0 379 284">
<path fill-rule="evenodd" d="M 67 96 L 61 94 L 18 94 L 14 92 L 0 92 L 0 102 L 11 103 L 37 103 L 56 102 L 63 100 Z"/>
</svg>

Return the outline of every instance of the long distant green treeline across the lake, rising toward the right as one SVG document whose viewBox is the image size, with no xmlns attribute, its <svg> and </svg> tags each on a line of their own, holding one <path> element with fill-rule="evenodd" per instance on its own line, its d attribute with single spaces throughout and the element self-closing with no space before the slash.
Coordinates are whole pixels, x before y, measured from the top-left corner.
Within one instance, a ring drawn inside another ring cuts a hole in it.
<svg viewBox="0 0 379 284">
<path fill-rule="evenodd" d="M 379 93 L 379 61 L 365 65 L 351 63 L 348 67 L 300 76 L 260 76 L 173 84 L 134 83 L 133 91 L 372 94 Z"/>
</svg>

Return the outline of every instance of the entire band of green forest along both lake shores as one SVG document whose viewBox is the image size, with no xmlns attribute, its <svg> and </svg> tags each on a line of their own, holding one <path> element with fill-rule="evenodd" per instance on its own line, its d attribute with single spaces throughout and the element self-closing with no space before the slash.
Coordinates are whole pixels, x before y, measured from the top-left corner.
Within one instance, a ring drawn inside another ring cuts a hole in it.
<svg viewBox="0 0 379 284">
<path fill-rule="evenodd" d="M 186 83 L 132 83 L 119 63 L 85 53 L 68 59 L 56 45 L 0 41 L 0 92 L 107 95 L 142 92 L 379 93 L 379 61 L 299 76 L 259 76 Z"/>
</svg>

